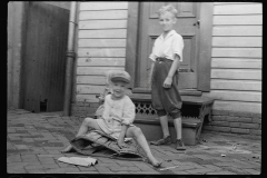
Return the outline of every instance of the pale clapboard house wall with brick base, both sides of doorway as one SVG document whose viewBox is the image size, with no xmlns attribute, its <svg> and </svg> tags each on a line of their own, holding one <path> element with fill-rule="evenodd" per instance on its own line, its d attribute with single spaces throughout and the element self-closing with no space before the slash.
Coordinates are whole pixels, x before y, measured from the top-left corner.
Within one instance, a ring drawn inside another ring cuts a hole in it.
<svg viewBox="0 0 267 178">
<path fill-rule="evenodd" d="M 107 70 L 125 70 L 128 2 L 80 2 L 72 115 L 98 106 Z M 207 130 L 260 135 L 263 7 L 215 2 L 211 53 L 214 121 Z"/>
</svg>

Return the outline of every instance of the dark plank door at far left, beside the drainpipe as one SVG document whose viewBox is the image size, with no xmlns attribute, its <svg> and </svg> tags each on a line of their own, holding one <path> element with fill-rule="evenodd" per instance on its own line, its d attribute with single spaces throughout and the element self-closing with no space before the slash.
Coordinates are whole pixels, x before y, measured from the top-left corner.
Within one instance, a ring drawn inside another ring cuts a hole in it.
<svg viewBox="0 0 267 178">
<path fill-rule="evenodd" d="M 24 21 L 22 108 L 63 110 L 69 10 L 29 2 Z"/>
</svg>

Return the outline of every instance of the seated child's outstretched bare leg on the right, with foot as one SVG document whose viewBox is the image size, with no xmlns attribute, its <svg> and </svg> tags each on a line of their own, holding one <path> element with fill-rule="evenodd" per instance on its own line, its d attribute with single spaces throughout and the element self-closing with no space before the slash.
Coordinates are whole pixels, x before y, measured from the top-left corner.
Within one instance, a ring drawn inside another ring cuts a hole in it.
<svg viewBox="0 0 267 178">
<path fill-rule="evenodd" d="M 146 156 L 148 157 L 149 161 L 152 166 L 158 167 L 160 162 L 152 156 L 152 152 L 148 146 L 147 139 L 144 136 L 142 131 L 138 127 L 129 127 L 126 132 L 126 137 L 135 137 L 139 146 L 145 151 Z"/>
</svg>

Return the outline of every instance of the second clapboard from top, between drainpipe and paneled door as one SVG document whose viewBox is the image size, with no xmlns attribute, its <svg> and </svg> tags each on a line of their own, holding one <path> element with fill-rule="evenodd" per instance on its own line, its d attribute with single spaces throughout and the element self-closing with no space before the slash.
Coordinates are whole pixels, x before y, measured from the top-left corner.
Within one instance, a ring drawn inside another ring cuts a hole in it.
<svg viewBox="0 0 267 178">
<path fill-rule="evenodd" d="M 81 11 L 80 20 L 91 19 L 126 19 L 127 10 L 108 10 L 108 11 Z"/>
</svg>

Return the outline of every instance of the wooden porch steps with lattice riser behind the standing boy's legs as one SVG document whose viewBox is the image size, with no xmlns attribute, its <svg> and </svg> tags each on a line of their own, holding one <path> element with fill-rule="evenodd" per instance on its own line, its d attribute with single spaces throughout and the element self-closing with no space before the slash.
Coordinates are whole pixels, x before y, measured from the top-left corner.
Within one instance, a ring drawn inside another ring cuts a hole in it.
<svg viewBox="0 0 267 178">
<path fill-rule="evenodd" d="M 147 140 L 162 138 L 160 122 L 151 108 L 151 95 L 134 95 L 131 99 L 137 106 L 135 125 L 142 129 Z M 202 96 L 181 96 L 181 100 L 182 140 L 185 145 L 196 145 L 199 141 L 205 118 L 206 121 L 210 120 L 214 99 Z M 169 130 L 171 141 L 175 142 L 176 131 L 172 119 L 169 119 Z"/>
</svg>

